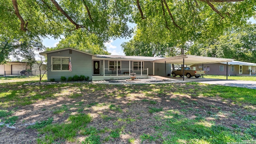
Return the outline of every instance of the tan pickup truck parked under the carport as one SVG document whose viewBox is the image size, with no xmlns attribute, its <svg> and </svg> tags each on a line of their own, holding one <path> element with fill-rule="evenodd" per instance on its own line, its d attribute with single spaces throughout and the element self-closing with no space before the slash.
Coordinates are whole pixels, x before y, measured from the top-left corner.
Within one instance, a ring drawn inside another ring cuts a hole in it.
<svg viewBox="0 0 256 144">
<path fill-rule="evenodd" d="M 190 70 L 189 67 L 184 67 L 185 69 L 185 76 L 187 76 L 187 78 L 191 78 L 192 76 L 199 78 L 200 76 L 203 76 L 205 71 L 204 70 Z M 172 76 L 183 76 L 183 67 L 178 68 L 178 70 L 173 70 L 172 71 Z"/>
</svg>

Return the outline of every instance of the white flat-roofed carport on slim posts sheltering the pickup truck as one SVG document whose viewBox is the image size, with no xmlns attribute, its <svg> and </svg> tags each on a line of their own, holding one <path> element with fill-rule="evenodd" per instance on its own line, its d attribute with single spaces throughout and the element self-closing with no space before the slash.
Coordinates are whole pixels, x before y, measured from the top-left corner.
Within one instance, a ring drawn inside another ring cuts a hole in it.
<svg viewBox="0 0 256 144">
<path fill-rule="evenodd" d="M 166 63 L 169 64 L 183 64 L 183 73 L 184 73 L 184 65 L 192 65 L 192 64 L 213 64 L 213 63 L 220 63 L 220 62 L 226 62 L 227 64 L 227 79 L 228 79 L 228 62 L 232 62 L 234 59 L 230 58 L 214 58 L 214 57 L 207 57 L 207 56 L 194 56 L 189 54 L 183 54 L 180 56 L 173 56 L 170 58 L 163 58 L 160 60 L 154 60 L 153 63 L 164 63 L 166 66 Z M 153 64 L 154 67 L 154 64 Z M 154 69 L 154 68 L 153 68 Z M 165 68 L 166 69 L 166 68 Z M 154 75 L 154 72 L 153 72 Z M 166 74 L 165 74 L 166 76 Z M 184 80 L 184 74 L 183 74 L 183 80 Z"/>
</svg>

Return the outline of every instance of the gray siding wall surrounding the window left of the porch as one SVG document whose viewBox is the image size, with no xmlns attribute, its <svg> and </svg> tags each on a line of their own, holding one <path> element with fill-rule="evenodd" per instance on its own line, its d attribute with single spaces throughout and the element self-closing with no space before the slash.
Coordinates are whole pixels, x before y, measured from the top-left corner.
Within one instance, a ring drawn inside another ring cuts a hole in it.
<svg viewBox="0 0 256 144">
<path fill-rule="evenodd" d="M 84 76 L 89 76 L 89 80 L 92 80 L 92 56 L 88 54 L 84 54 L 81 52 L 77 52 L 75 50 L 72 50 L 72 54 L 69 54 L 69 50 L 63 50 L 49 53 L 47 56 L 47 67 L 51 67 L 51 60 L 52 57 L 70 57 L 71 58 L 71 64 L 72 64 L 72 72 L 70 71 L 52 71 L 52 69 L 48 70 L 48 80 L 51 78 L 54 78 L 55 80 L 59 81 L 61 76 L 65 76 L 68 78 L 69 76 L 74 76 L 77 74 L 80 76 L 81 74 Z"/>
</svg>

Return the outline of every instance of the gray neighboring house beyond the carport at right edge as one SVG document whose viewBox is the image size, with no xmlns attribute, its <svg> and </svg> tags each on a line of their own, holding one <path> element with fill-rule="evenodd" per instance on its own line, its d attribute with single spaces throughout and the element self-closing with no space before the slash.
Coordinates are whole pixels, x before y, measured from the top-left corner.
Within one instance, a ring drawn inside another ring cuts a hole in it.
<svg viewBox="0 0 256 144">
<path fill-rule="evenodd" d="M 205 70 L 205 74 L 214 75 L 226 75 L 227 74 L 227 63 L 215 63 L 215 64 L 196 64 L 191 65 L 191 69 L 194 70 Z M 256 64 L 250 62 L 232 61 L 228 62 L 228 75 L 255 75 Z"/>
</svg>

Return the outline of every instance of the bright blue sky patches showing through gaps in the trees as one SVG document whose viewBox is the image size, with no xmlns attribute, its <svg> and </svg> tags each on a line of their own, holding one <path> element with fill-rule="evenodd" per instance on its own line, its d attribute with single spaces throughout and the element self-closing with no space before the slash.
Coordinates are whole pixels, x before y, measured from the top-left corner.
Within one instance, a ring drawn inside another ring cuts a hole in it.
<svg viewBox="0 0 256 144">
<path fill-rule="evenodd" d="M 254 18 L 250 18 L 248 21 L 256 24 L 256 20 Z M 131 26 L 134 27 L 135 24 L 131 24 Z M 110 52 L 112 55 L 124 55 L 121 44 L 123 42 L 128 42 L 130 39 L 131 38 L 118 38 L 116 40 L 110 40 L 110 42 L 105 43 L 105 46 L 107 47 L 108 52 Z M 59 41 L 60 39 L 54 40 L 54 38 L 46 38 L 43 40 L 43 44 L 46 47 L 55 47 Z"/>
</svg>

